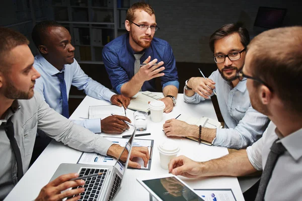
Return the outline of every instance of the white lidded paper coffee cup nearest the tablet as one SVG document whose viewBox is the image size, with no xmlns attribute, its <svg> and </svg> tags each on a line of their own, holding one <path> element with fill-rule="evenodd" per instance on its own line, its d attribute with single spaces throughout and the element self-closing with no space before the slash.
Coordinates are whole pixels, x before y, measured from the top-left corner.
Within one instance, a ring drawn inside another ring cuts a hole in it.
<svg viewBox="0 0 302 201">
<path fill-rule="evenodd" d="M 168 164 L 171 159 L 177 156 L 180 148 L 177 143 L 172 140 L 168 140 L 159 145 L 161 167 L 168 169 Z"/>
</svg>

